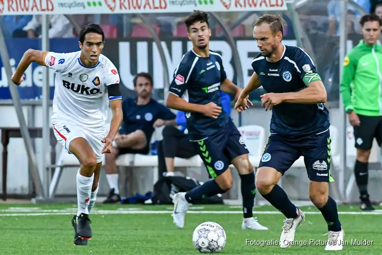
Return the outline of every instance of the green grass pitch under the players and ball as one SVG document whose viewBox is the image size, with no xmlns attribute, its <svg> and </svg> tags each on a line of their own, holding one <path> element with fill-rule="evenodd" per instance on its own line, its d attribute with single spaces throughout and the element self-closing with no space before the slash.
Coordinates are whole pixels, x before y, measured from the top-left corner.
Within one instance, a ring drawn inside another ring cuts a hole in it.
<svg viewBox="0 0 382 255">
<path fill-rule="evenodd" d="M 172 222 L 172 206 L 96 205 L 91 214 L 93 239 L 88 246 L 73 246 L 74 231 L 70 219 L 76 205 L 0 205 L 0 254 L 199 254 L 192 243 L 192 234 L 204 221 L 221 224 L 227 243 L 221 254 L 323 254 L 323 245 L 311 240 L 326 241 L 326 223 L 318 210 L 302 207 L 306 221 L 296 231 L 296 241 L 306 245 L 281 249 L 277 245 L 249 245 L 247 240 L 279 240 L 283 215 L 271 207 L 257 207 L 255 215 L 268 231 L 241 230 L 240 207 L 194 206 L 186 216 L 183 229 Z M 382 208 L 377 208 L 382 209 Z M 345 245 L 338 254 L 381 254 L 382 210 L 363 213 L 358 207 L 339 207 L 345 231 Z M 356 244 L 354 240 L 367 240 Z M 371 242 L 372 241 L 372 242 Z"/>
</svg>

